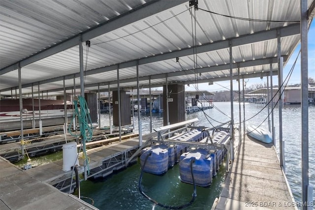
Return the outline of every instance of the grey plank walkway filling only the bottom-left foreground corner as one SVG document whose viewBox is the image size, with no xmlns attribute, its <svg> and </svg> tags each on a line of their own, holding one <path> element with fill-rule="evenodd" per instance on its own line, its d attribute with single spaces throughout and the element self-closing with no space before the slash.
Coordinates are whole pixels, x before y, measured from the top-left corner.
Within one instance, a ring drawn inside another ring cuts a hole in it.
<svg viewBox="0 0 315 210">
<path fill-rule="evenodd" d="M 0 210 L 97 210 L 0 157 Z"/>
</svg>

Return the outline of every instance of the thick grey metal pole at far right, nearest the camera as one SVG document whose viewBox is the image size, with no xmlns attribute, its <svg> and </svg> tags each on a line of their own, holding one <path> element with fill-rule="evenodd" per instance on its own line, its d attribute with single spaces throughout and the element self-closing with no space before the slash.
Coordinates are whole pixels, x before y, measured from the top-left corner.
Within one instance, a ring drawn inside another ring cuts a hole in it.
<svg viewBox="0 0 315 210">
<path fill-rule="evenodd" d="M 302 148 L 302 202 L 313 201 L 309 190 L 309 104 L 308 104 L 308 8 L 307 0 L 301 0 L 301 148 Z M 310 187 L 311 188 L 311 187 Z M 309 198 L 309 200 L 308 200 Z M 303 210 L 308 207 L 303 205 Z M 309 209 L 312 209 L 310 207 Z"/>
</svg>

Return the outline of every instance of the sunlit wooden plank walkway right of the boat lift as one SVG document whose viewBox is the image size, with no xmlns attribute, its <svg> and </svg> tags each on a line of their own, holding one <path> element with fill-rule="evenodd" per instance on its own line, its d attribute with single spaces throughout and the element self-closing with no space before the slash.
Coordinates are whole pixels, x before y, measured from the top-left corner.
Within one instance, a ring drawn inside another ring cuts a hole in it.
<svg viewBox="0 0 315 210">
<path fill-rule="evenodd" d="M 290 210 L 293 201 L 274 147 L 243 138 L 215 209 Z"/>
</svg>

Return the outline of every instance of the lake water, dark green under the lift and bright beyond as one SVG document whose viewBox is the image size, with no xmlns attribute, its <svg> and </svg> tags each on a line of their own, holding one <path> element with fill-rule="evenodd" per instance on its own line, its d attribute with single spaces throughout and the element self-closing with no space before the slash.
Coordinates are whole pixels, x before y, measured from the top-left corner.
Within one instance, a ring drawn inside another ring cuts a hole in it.
<svg viewBox="0 0 315 210">
<path fill-rule="evenodd" d="M 229 102 L 216 102 L 217 109 L 205 110 L 205 113 L 212 119 L 226 122 L 230 116 Z M 248 104 L 245 105 L 246 119 L 256 115 L 264 105 Z M 242 119 L 243 119 L 243 104 L 242 104 Z M 223 115 L 221 112 L 227 116 Z M 278 108 L 275 108 L 275 126 L 276 139 L 279 141 L 279 122 Z M 267 108 L 260 114 L 246 121 L 247 124 L 259 125 L 267 116 Z M 198 118 L 197 125 L 211 126 L 218 122 L 210 120 L 208 122 L 204 113 L 197 112 L 187 116 L 187 120 Z M 148 133 L 150 130 L 150 115 L 149 113 L 141 113 L 142 133 Z M 315 106 L 309 107 L 309 175 L 310 184 L 315 186 Z M 132 120 L 131 120 L 132 121 Z M 162 126 L 163 114 L 153 113 L 153 127 Z M 135 113 L 135 130 L 137 132 L 138 119 Z M 234 122 L 239 122 L 239 107 L 238 103 L 234 103 Z M 290 183 L 291 190 L 296 202 L 301 201 L 301 110 L 299 105 L 286 105 L 283 109 L 283 139 L 285 141 L 285 167 L 286 176 Z M 101 125 L 108 126 L 108 114 L 101 115 Z M 243 125 L 243 124 L 242 124 Z M 261 125 L 265 129 L 268 128 L 266 120 Z M 279 143 L 277 144 L 279 146 Z M 279 151 L 279 148 L 278 148 Z M 225 166 L 221 166 L 218 176 L 214 178 L 210 187 L 197 187 L 197 197 L 195 202 L 189 206 L 189 210 L 210 209 L 213 201 L 220 195 L 222 184 L 225 177 Z M 110 177 L 97 181 L 83 181 L 81 183 L 81 195 L 92 198 L 94 206 L 100 210 L 151 210 L 162 209 L 155 206 L 153 203 L 144 198 L 138 190 L 138 181 L 141 173 L 140 164 L 138 163 L 128 167 L 126 170 L 117 172 Z M 182 183 L 179 179 L 179 166 L 175 165 L 163 176 L 154 176 L 144 173 L 142 187 L 144 192 L 165 205 L 183 205 L 190 201 L 193 187 L 190 184 Z M 315 196 L 314 196 L 315 198 Z M 87 200 L 87 202 L 89 202 Z"/>
</svg>

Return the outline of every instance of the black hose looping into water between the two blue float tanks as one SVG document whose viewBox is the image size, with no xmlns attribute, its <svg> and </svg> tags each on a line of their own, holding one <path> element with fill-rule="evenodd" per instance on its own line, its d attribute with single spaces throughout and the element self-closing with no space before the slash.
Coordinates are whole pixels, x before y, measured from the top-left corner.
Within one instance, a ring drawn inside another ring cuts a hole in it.
<svg viewBox="0 0 315 210">
<path fill-rule="evenodd" d="M 195 183 L 195 180 L 194 180 L 194 177 L 193 177 L 193 172 L 192 172 L 192 164 L 194 163 L 194 159 L 191 159 L 190 160 L 190 172 L 191 172 L 191 177 L 192 177 L 192 183 L 193 183 L 193 194 L 192 194 L 192 199 L 189 201 L 189 203 L 187 204 L 184 204 L 182 206 L 167 206 L 167 205 L 164 205 L 164 204 L 160 204 L 158 203 L 156 200 L 150 198 L 148 195 L 146 195 L 143 190 L 142 190 L 142 187 L 141 187 L 141 181 L 142 181 L 142 175 L 143 175 L 143 169 L 147 163 L 147 160 L 148 160 L 148 157 L 151 156 L 152 154 L 152 151 L 149 152 L 149 154 L 146 156 L 146 159 L 144 160 L 144 163 L 143 163 L 143 166 L 142 166 L 142 169 L 141 169 L 141 174 L 140 174 L 140 179 L 139 179 L 139 191 L 140 193 L 146 197 L 149 201 L 151 201 L 152 203 L 154 203 L 155 205 L 158 205 L 162 208 L 165 208 L 165 209 L 170 209 L 170 210 L 179 210 L 179 209 L 183 209 L 183 208 L 186 208 L 188 206 L 190 206 L 194 200 L 196 199 L 197 197 L 197 193 L 196 193 L 196 183 Z"/>
</svg>

